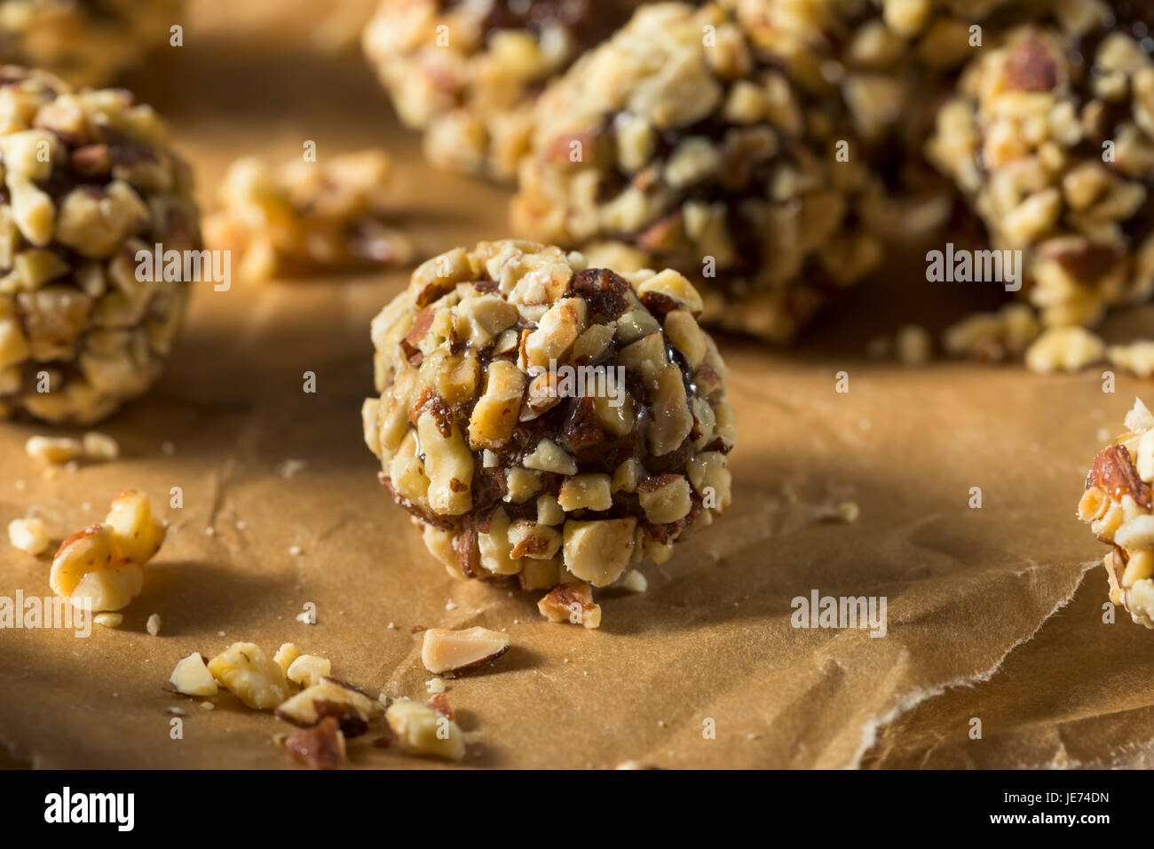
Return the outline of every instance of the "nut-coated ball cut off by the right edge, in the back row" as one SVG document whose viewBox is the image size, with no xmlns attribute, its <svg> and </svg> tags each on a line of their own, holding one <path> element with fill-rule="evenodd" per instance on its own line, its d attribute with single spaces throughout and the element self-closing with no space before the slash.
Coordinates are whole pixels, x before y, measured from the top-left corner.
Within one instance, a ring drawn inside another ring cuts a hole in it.
<svg viewBox="0 0 1154 849">
<path fill-rule="evenodd" d="M 1100 10 L 983 51 L 929 146 L 994 247 L 1021 251 L 1022 293 L 1051 327 L 1154 293 L 1154 42 L 1122 6 Z"/>
</svg>

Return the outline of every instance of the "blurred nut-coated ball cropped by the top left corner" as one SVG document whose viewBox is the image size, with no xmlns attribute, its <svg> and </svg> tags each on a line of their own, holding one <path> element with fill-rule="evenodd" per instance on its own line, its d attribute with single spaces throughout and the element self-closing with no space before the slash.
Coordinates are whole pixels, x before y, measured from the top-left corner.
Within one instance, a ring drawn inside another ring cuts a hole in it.
<svg viewBox="0 0 1154 849">
<path fill-rule="evenodd" d="M 104 85 L 170 38 L 181 0 L 5 0 L 0 64 Z"/>
</svg>

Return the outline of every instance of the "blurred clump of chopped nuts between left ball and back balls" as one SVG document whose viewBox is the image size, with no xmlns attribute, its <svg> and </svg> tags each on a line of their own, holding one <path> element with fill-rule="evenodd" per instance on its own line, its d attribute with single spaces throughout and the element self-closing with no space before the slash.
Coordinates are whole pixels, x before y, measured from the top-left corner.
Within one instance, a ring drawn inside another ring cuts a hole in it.
<svg viewBox="0 0 1154 849">
<path fill-rule="evenodd" d="M 241 254 L 240 275 L 372 268 L 407 262 L 413 247 L 395 215 L 392 159 L 383 150 L 292 162 L 273 170 L 237 159 L 220 185 L 223 208 L 208 216 L 209 244 Z"/>
</svg>

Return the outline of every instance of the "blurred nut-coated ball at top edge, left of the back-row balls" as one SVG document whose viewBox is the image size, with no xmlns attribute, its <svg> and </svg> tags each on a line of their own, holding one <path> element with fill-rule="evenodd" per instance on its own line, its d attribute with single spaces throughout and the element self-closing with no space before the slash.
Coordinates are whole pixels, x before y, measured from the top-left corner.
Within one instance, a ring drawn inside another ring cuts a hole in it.
<svg viewBox="0 0 1154 849">
<path fill-rule="evenodd" d="M 382 0 L 364 47 L 440 167 L 511 180 L 541 87 L 640 0 Z"/>
</svg>

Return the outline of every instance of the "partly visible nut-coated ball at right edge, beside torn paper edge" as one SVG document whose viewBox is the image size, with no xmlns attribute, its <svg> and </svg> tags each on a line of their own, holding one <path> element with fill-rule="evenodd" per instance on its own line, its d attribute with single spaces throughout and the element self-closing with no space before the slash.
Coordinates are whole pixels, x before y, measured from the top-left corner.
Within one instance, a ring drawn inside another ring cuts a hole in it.
<svg viewBox="0 0 1154 849">
<path fill-rule="evenodd" d="M 1110 601 L 1154 628 L 1154 415 L 1139 401 L 1126 432 L 1094 457 L 1078 517 L 1111 546 L 1106 556 Z"/>
</svg>

